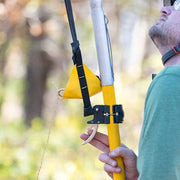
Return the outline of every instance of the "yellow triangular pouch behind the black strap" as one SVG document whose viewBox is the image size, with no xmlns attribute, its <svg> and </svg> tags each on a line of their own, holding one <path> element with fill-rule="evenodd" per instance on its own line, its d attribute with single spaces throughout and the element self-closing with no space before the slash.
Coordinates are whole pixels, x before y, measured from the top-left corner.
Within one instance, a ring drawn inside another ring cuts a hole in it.
<svg viewBox="0 0 180 180">
<path fill-rule="evenodd" d="M 89 96 L 93 96 L 101 91 L 101 82 L 93 72 L 83 64 Z M 74 65 L 66 89 L 62 96 L 63 99 L 82 99 L 80 83 L 78 79 L 76 65 Z"/>
</svg>

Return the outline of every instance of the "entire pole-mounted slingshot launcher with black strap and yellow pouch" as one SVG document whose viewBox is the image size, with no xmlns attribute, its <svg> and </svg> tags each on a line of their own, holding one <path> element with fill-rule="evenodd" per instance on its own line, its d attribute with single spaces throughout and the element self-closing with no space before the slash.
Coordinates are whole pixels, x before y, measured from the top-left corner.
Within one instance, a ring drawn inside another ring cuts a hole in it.
<svg viewBox="0 0 180 180">
<path fill-rule="evenodd" d="M 109 145 L 112 151 L 116 147 L 121 146 L 119 123 L 123 122 L 124 113 L 122 105 L 116 104 L 110 41 L 107 33 L 102 0 L 90 0 L 100 78 L 94 75 L 94 73 L 83 64 L 75 30 L 71 1 L 64 1 L 73 39 L 71 46 L 74 67 L 62 98 L 83 99 L 84 116 L 94 116 L 94 118 L 87 123 L 94 124 L 96 127 L 98 124 L 107 124 Z M 95 105 L 92 107 L 90 96 L 100 91 L 102 91 L 103 94 L 104 105 Z M 93 135 L 95 135 L 95 133 L 93 133 Z M 92 138 L 93 137 L 90 137 L 90 139 Z M 113 178 L 114 180 L 125 180 L 123 161 L 121 158 L 117 158 L 116 160 L 122 171 L 120 173 L 114 173 Z"/>
</svg>

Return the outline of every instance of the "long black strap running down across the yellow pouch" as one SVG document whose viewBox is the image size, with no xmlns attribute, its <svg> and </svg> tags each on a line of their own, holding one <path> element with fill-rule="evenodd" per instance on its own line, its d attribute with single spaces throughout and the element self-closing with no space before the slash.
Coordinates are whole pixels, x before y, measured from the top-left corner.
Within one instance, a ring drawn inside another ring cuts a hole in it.
<svg viewBox="0 0 180 180">
<path fill-rule="evenodd" d="M 77 68 L 77 72 L 78 72 L 81 94 L 82 94 L 83 103 L 84 103 L 84 116 L 89 116 L 89 115 L 93 114 L 93 110 L 92 110 L 91 101 L 90 101 L 90 97 L 89 97 L 86 76 L 84 73 L 81 50 L 79 47 L 79 41 L 77 40 L 71 1 L 70 0 L 64 0 L 64 1 L 65 1 L 65 5 L 66 5 L 69 26 L 70 26 L 70 30 L 71 30 L 72 39 L 73 39 L 73 42 L 71 43 L 72 52 L 73 52 L 72 59 L 73 59 L 74 64 L 76 64 L 76 68 Z"/>
</svg>

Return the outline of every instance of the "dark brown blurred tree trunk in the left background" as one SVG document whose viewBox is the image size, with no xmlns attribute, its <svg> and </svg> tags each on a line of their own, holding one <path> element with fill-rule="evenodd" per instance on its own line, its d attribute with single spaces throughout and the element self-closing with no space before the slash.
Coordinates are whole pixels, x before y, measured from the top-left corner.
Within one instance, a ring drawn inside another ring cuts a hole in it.
<svg viewBox="0 0 180 180">
<path fill-rule="evenodd" d="M 42 116 L 43 95 L 46 80 L 52 64 L 49 55 L 40 47 L 43 37 L 32 38 L 27 70 L 26 124 L 30 125 L 33 118 Z"/>
</svg>

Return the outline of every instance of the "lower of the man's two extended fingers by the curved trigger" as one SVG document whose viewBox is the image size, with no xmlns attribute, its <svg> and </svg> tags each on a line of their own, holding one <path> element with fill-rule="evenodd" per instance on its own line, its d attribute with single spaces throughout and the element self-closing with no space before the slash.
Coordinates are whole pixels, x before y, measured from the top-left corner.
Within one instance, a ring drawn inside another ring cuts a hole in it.
<svg viewBox="0 0 180 180">
<path fill-rule="evenodd" d="M 89 137 L 89 135 L 87 135 L 87 134 L 81 134 L 80 135 L 80 138 L 83 139 L 83 140 L 86 140 L 88 137 Z M 98 148 L 99 150 L 103 151 L 104 153 L 109 153 L 109 147 L 106 144 L 102 143 L 101 141 L 94 138 L 89 143 L 92 146 L 94 146 L 94 147 Z"/>
</svg>

